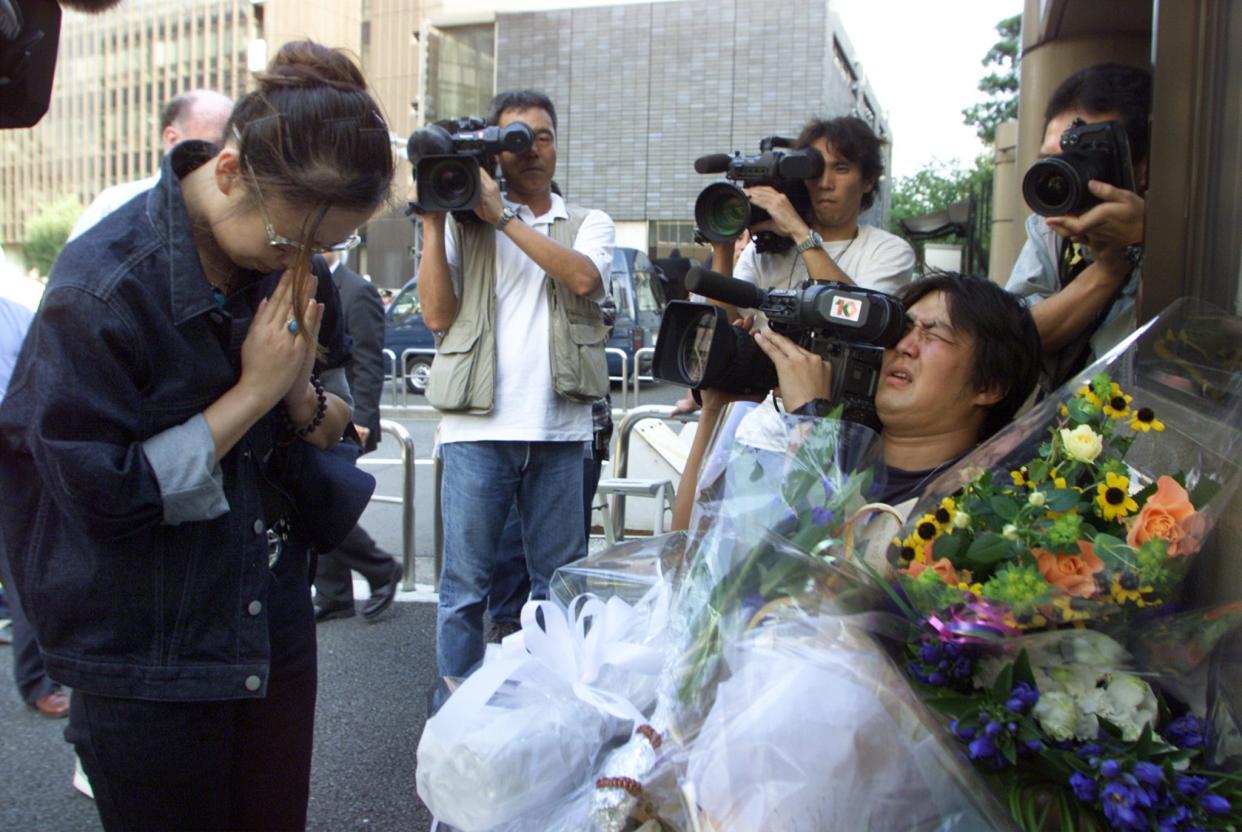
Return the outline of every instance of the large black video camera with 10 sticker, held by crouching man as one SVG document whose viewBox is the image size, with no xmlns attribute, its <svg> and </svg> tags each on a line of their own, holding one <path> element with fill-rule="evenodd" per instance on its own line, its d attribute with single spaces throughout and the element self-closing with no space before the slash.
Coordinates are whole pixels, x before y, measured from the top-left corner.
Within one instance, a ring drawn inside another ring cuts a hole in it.
<svg viewBox="0 0 1242 832">
<path fill-rule="evenodd" d="M 686 287 L 739 308 L 755 308 L 774 332 L 832 365 L 831 401 L 843 418 L 879 432 L 876 387 L 884 348 L 905 333 L 905 307 L 897 298 L 836 282 L 807 281 L 796 289 L 760 289 L 745 281 L 694 267 Z M 749 333 L 709 303 L 672 301 L 664 309 L 651 373 L 689 387 L 764 394 L 776 386 L 776 368 Z"/>
</svg>

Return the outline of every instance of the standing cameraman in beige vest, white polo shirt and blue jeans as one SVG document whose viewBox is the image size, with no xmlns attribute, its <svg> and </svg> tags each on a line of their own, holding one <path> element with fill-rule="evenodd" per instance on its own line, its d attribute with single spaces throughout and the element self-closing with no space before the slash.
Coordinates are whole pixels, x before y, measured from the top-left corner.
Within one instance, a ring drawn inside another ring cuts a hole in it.
<svg viewBox="0 0 1242 832">
<path fill-rule="evenodd" d="M 599 304 L 612 220 L 553 192 L 556 111 L 546 96 L 503 92 L 487 120 L 534 133 L 527 153 L 499 154 L 508 190 L 483 171 L 479 222 L 422 215 L 419 298 L 437 333 L 427 400 L 443 414 L 442 677 L 466 676 L 483 658 L 483 611 L 514 499 L 532 597 L 546 597 L 553 571 L 586 554 L 590 402 L 609 391 Z"/>
</svg>

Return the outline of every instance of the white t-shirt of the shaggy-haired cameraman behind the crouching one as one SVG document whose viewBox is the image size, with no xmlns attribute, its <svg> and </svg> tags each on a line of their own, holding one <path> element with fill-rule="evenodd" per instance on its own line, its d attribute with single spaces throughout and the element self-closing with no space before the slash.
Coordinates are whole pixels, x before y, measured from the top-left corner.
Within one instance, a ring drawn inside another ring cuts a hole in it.
<svg viewBox="0 0 1242 832">
<path fill-rule="evenodd" d="M 851 281 L 864 289 L 894 294 L 914 276 L 910 243 L 876 226 L 861 225 L 857 237 L 826 242 L 823 250 Z M 802 256 L 792 248 L 760 255 L 753 241 L 743 250 L 733 276 L 763 289 L 792 289 L 811 279 Z"/>
</svg>

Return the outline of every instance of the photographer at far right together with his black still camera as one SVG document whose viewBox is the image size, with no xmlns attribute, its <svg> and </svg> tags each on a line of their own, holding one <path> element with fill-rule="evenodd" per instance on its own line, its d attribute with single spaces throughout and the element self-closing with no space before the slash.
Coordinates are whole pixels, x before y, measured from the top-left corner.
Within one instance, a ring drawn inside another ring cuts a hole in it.
<svg viewBox="0 0 1242 832">
<path fill-rule="evenodd" d="M 1134 329 L 1150 107 L 1146 70 L 1099 63 L 1062 82 L 1045 111 L 1042 159 L 1023 181 L 1023 196 L 1037 212 L 1027 217 L 1026 243 L 1006 286 L 1031 307 L 1040 328 L 1045 391 Z M 1107 139 L 1107 130 L 1094 128 L 1109 122 L 1117 123 L 1115 151 L 1097 138 Z M 1120 149 L 1125 145 L 1128 154 Z M 1069 163 L 1063 176 L 1046 168 L 1041 179 L 1037 168 L 1062 161 Z M 1078 181 L 1084 176 L 1089 180 Z M 1057 211 L 1058 202 L 1071 201 L 1057 197 L 1076 192 L 1074 205 Z"/>
</svg>

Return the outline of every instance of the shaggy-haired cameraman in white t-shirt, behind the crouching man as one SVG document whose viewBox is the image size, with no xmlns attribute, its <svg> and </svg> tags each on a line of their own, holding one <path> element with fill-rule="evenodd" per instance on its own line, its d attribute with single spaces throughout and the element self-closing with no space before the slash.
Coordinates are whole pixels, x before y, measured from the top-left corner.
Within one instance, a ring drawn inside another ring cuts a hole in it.
<svg viewBox="0 0 1242 832">
<path fill-rule="evenodd" d="M 751 241 L 734 268 L 734 243 L 714 243 L 713 271 L 765 289 L 816 279 L 897 293 L 914 273 L 914 250 L 883 228 L 858 224 L 858 215 L 876 201 L 884 173 L 883 144 L 866 122 L 852 115 L 809 122 L 794 147 L 814 148 L 823 156 L 823 173 L 806 180 L 814 211 L 810 224 L 775 188 L 748 188 L 750 201 L 771 215 L 753 227 L 751 235 L 775 231 L 795 245 L 760 253 Z"/>
</svg>

